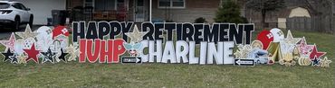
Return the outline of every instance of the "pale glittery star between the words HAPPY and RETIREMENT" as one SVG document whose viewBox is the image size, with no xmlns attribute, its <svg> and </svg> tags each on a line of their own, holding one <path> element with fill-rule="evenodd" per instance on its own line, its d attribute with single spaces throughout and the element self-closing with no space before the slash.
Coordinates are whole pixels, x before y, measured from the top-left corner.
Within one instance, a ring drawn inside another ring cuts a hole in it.
<svg viewBox="0 0 335 88">
<path fill-rule="evenodd" d="M 139 32 L 139 28 L 137 25 L 134 26 L 134 29 L 132 32 L 125 33 L 131 40 L 131 42 L 140 42 L 144 35 L 146 35 L 147 32 Z"/>
</svg>

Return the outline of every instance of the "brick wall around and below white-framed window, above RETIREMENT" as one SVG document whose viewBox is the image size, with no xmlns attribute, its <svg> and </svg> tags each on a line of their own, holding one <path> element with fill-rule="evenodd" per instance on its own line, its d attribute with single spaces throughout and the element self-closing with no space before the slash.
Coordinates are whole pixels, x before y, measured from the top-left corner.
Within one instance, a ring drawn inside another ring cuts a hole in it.
<svg viewBox="0 0 335 88">
<path fill-rule="evenodd" d="M 153 20 L 170 19 L 173 22 L 194 22 L 196 18 L 204 17 L 207 22 L 214 22 L 220 0 L 186 0 L 186 8 L 183 9 L 158 8 L 158 0 L 153 0 L 152 4 Z"/>
</svg>

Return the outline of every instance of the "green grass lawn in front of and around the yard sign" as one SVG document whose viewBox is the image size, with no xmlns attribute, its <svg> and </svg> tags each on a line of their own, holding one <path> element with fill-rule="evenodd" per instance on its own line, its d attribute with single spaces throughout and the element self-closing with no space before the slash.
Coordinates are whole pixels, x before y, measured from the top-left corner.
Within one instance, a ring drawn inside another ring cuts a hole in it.
<svg viewBox="0 0 335 88">
<path fill-rule="evenodd" d="M 335 61 L 335 35 L 292 31 Z M 256 33 L 253 35 L 256 37 Z M 5 48 L 0 47 L 0 51 Z M 186 64 L 58 64 L 13 65 L 0 57 L 0 87 L 324 87 L 335 86 L 335 64 L 312 66 L 215 66 Z"/>
</svg>

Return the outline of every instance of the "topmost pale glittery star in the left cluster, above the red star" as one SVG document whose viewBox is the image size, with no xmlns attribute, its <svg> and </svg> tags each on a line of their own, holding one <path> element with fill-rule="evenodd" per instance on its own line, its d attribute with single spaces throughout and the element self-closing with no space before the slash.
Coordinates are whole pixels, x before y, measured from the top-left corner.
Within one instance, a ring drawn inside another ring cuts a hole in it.
<svg viewBox="0 0 335 88">
<path fill-rule="evenodd" d="M 21 37 L 22 39 L 26 40 L 28 38 L 36 38 L 36 36 L 38 35 L 37 32 L 33 32 L 32 29 L 30 28 L 29 24 L 27 24 L 27 26 L 25 27 L 25 31 L 24 32 L 16 32 L 15 34 L 17 34 L 19 37 Z"/>
</svg>

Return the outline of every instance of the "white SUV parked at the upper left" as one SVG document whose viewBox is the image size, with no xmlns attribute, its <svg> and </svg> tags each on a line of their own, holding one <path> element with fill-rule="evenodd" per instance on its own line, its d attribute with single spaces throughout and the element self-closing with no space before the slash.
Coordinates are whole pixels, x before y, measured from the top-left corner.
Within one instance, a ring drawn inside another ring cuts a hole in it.
<svg viewBox="0 0 335 88">
<path fill-rule="evenodd" d="M 33 25 L 34 14 L 24 4 L 12 1 L 0 1 L 0 25 L 19 30 L 21 24 Z"/>
</svg>

